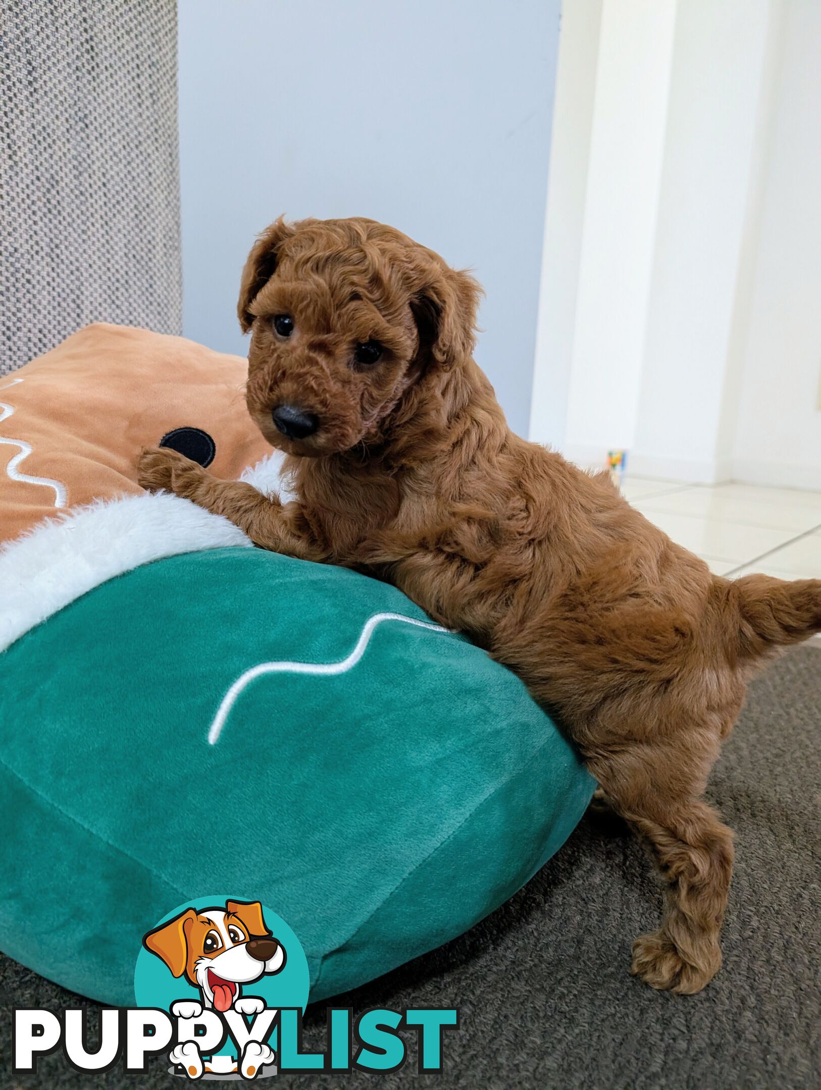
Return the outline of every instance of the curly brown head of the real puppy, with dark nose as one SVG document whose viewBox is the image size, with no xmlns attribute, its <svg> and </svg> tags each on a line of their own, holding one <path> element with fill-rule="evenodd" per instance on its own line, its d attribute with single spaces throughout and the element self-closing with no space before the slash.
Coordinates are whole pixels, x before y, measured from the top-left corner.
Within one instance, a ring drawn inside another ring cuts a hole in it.
<svg viewBox="0 0 821 1090">
<path fill-rule="evenodd" d="M 252 417 L 293 455 L 378 438 L 411 386 L 470 356 L 480 290 L 374 220 L 278 219 L 249 255 L 238 306 Z"/>
</svg>

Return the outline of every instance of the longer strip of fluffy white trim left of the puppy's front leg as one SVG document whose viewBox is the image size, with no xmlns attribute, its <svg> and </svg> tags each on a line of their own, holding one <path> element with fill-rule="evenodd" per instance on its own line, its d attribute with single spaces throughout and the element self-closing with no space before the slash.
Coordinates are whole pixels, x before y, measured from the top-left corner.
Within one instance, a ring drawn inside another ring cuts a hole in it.
<svg viewBox="0 0 821 1090">
<path fill-rule="evenodd" d="M 99 583 L 150 560 L 233 545 L 245 534 L 169 493 L 98 500 L 0 546 L 0 651 Z"/>
</svg>

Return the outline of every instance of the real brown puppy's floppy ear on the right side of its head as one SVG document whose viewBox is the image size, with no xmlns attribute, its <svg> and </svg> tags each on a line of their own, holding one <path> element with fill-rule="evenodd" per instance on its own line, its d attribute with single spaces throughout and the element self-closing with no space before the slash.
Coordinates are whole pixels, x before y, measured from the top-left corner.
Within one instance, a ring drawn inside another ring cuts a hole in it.
<svg viewBox="0 0 821 1090">
<path fill-rule="evenodd" d="M 422 358 L 448 371 L 472 354 L 481 295 L 481 286 L 469 272 L 446 266 L 435 270 L 410 303 Z"/>
</svg>

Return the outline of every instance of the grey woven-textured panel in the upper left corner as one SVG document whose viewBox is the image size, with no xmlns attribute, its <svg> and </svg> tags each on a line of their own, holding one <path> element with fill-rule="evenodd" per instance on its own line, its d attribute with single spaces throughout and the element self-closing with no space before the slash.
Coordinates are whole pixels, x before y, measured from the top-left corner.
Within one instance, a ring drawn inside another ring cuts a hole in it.
<svg viewBox="0 0 821 1090">
<path fill-rule="evenodd" d="M 0 0 L 0 374 L 181 280 L 174 0 Z"/>
</svg>

